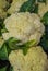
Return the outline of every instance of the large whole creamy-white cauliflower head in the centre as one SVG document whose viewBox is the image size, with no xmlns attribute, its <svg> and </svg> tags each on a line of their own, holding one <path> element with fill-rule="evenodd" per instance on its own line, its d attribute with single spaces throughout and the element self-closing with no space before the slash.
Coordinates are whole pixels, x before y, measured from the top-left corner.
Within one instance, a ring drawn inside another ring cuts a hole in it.
<svg viewBox="0 0 48 71">
<path fill-rule="evenodd" d="M 36 44 L 38 44 L 45 32 L 45 26 L 37 14 L 28 12 L 12 14 L 5 19 L 4 24 L 9 31 L 9 33 L 2 34 L 5 40 L 10 37 L 15 37 L 22 43 L 35 39 Z"/>
</svg>

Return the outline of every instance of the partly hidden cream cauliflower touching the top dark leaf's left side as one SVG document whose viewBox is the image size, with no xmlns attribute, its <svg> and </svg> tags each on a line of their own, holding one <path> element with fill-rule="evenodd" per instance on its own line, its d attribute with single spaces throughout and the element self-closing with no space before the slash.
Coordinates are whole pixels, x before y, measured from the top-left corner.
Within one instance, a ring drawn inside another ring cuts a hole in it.
<svg viewBox="0 0 48 71">
<path fill-rule="evenodd" d="M 21 5 L 26 1 L 27 0 L 13 0 L 10 9 L 8 10 L 8 13 L 12 14 L 14 12 L 17 12 L 20 10 Z"/>
</svg>

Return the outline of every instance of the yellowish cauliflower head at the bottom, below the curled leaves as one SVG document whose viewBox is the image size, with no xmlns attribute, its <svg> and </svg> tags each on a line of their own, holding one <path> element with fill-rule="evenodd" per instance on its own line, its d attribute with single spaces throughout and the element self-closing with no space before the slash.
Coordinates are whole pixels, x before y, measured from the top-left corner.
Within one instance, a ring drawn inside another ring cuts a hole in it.
<svg viewBox="0 0 48 71">
<path fill-rule="evenodd" d="M 47 56 L 40 46 L 31 47 L 24 56 L 22 50 L 11 51 L 9 61 L 13 71 L 45 71 Z"/>
</svg>

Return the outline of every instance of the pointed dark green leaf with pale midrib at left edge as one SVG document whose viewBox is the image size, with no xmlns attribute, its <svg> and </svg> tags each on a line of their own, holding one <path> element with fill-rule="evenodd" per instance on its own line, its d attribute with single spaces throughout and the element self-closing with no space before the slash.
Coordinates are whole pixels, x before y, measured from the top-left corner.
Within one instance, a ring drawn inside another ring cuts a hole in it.
<svg viewBox="0 0 48 71">
<path fill-rule="evenodd" d="M 10 49 L 8 43 L 4 42 L 0 49 L 0 59 L 8 60 L 10 52 L 11 52 L 11 49 Z"/>
</svg>

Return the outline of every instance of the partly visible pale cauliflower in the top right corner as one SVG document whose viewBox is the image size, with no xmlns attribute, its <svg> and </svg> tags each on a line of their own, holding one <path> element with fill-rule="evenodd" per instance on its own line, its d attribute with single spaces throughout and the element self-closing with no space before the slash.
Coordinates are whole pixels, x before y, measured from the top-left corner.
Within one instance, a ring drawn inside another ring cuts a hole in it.
<svg viewBox="0 0 48 71">
<path fill-rule="evenodd" d="M 40 15 L 40 17 L 44 16 L 44 14 L 48 11 L 48 1 L 47 3 L 39 3 L 39 9 L 38 9 L 38 14 Z"/>
</svg>

